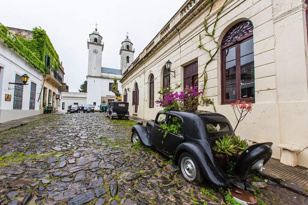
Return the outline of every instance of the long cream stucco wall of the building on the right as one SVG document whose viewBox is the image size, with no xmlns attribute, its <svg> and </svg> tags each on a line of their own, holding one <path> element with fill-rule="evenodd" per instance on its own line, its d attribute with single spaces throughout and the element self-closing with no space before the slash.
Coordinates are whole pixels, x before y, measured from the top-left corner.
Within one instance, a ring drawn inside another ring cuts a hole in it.
<svg viewBox="0 0 308 205">
<path fill-rule="evenodd" d="M 199 6 L 206 1 L 198 1 Z M 217 1 L 213 7 L 213 15 L 208 22 L 211 25 L 217 10 L 224 1 Z M 185 5 L 183 6 L 183 8 Z M 273 157 L 280 158 L 280 143 L 293 144 L 301 150 L 308 146 L 308 89 L 307 89 L 307 30 L 306 5 L 301 0 L 232 0 L 223 10 L 215 32 L 215 39 L 220 43 L 225 33 L 237 22 L 250 20 L 253 23 L 254 66 L 255 66 L 255 103 L 253 112 L 239 125 L 237 135 L 242 138 L 261 138 L 272 141 Z M 128 102 L 132 103 L 132 91 L 135 83 L 139 85 L 139 106 L 137 115 L 145 119 L 153 119 L 157 111 L 149 108 L 149 76 L 154 74 L 155 97 L 162 86 L 162 69 L 167 60 L 172 61 L 171 85 L 182 83 L 183 68 L 191 62 L 198 61 L 198 73 L 202 73 L 209 55 L 199 45 L 199 34 L 208 49 L 215 44 L 205 37 L 203 22 L 206 9 L 195 14 L 192 21 L 184 23 L 179 33 L 172 32 L 173 37 L 162 43 L 161 47 L 150 55 L 139 67 L 123 78 L 122 91 L 129 88 Z M 187 14 L 189 15 L 189 14 Z M 181 26 L 180 13 L 168 23 Z M 164 30 L 164 29 L 163 29 Z M 169 34 L 167 34 L 169 35 Z M 154 46 L 164 35 L 157 35 Z M 151 43 L 149 44 L 151 45 Z M 145 48 L 138 58 L 149 56 L 151 49 Z M 214 99 L 217 112 L 225 115 L 234 126 L 236 119 L 230 105 L 221 104 L 221 60 L 217 59 L 207 67 L 208 81 L 205 96 Z M 134 63 L 133 63 L 134 64 Z M 129 67 L 129 70 L 132 66 Z M 201 80 L 199 88 L 202 87 Z M 213 107 L 198 107 L 199 110 L 213 111 Z M 134 113 L 134 106 L 129 106 Z M 308 149 L 298 154 L 298 164 L 308 166 Z"/>
</svg>

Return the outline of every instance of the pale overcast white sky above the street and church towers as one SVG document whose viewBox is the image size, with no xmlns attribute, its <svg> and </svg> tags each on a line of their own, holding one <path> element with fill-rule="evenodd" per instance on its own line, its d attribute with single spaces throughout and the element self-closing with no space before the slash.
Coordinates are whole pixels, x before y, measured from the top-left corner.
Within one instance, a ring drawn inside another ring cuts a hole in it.
<svg viewBox="0 0 308 205">
<path fill-rule="evenodd" d="M 30 30 L 41 26 L 51 39 L 65 71 L 69 91 L 86 80 L 87 38 L 95 30 L 103 37 L 102 66 L 120 69 L 119 50 L 129 32 L 134 59 L 169 21 L 185 0 L 1 1 L 0 22 Z"/>
</svg>

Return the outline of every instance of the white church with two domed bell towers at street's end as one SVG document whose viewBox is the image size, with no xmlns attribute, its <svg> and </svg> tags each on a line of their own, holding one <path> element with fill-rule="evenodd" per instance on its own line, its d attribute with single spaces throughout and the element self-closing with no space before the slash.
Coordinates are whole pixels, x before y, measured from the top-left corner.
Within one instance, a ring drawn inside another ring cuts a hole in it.
<svg viewBox="0 0 308 205">
<path fill-rule="evenodd" d="M 120 48 L 121 63 L 120 69 L 102 67 L 102 52 L 104 49 L 104 42 L 102 41 L 102 36 L 99 34 L 97 29 L 89 35 L 87 40 L 88 48 L 88 73 L 87 73 L 87 93 L 86 99 L 84 94 L 82 99 L 79 99 L 79 95 L 76 93 L 67 92 L 64 93 L 65 96 L 74 96 L 74 98 L 63 99 L 65 101 L 66 107 L 71 104 L 79 104 L 79 106 L 84 105 L 80 102 L 86 102 L 85 104 L 94 105 L 95 110 L 99 110 L 99 105 L 102 103 L 110 103 L 116 100 L 115 94 L 111 91 L 111 85 L 113 84 L 113 79 L 118 80 L 118 90 L 122 93 L 120 80 L 122 78 L 122 73 L 128 68 L 132 63 L 134 58 L 134 49 L 132 48 L 132 42 L 128 36 L 122 42 Z M 125 97 L 124 97 L 125 98 Z M 75 102 L 75 101 L 76 102 Z M 122 98 L 122 100 L 124 100 Z"/>
</svg>

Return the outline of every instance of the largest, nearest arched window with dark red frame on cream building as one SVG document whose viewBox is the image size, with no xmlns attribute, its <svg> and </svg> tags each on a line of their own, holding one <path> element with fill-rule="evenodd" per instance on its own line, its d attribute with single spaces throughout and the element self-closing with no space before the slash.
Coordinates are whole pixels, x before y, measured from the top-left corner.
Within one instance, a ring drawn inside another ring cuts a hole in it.
<svg viewBox="0 0 308 205">
<path fill-rule="evenodd" d="M 221 42 L 222 104 L 237 100 L 254 102 L 253 24 L 234 25 Z"/>
</svg>

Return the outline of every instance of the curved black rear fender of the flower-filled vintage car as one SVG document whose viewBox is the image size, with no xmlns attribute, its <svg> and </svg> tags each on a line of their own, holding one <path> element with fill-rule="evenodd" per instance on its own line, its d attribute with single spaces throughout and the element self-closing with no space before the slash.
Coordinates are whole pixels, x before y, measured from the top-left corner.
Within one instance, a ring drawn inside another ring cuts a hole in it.
<svg viewBox="0 0 308 205">
<path fill-rule="evenodd" d="M 232 182 L 232 179 L 230 179 L 225 175 L 223 171 L 217 168 L 217 166 L 214 164 L 214 159 L 211 159 L 205 150 L 198 144 L 193 142 L 184 142 L 180 144 L 176 149 L 175 155 L 173 157 L 173 160 L 176 163 L 183 151 L 189 152 L 191 155 L 193 155 L 194 159 L 197 161 L 200 167 L 200 171 L 202 172 L 203 176 L 210 183 L 216 184 L 217 186 L 228 186 Z"/>
</svg>

